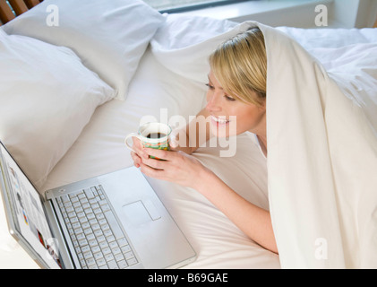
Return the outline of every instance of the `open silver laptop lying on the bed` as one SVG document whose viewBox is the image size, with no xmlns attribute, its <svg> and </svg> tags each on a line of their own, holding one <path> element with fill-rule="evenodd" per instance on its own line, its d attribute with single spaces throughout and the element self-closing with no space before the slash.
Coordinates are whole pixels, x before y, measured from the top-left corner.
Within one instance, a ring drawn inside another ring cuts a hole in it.
<svg viewBox="0 0 377 287">
<path fill-rule="evenodd" d="M 132 167 L 41 196 L 0 142 L 0 188 L 13 238 L 43 268 L 177 268 L 196 254 Z"/>
</svg>

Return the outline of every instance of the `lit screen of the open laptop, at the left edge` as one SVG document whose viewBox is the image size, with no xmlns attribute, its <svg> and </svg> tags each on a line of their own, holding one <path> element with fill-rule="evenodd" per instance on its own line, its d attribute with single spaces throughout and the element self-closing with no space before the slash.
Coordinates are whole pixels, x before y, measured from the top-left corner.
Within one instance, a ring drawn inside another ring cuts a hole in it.
<svg viewBox="0 0 377 287">
<path fill-rule="evenodd" d="M 31 185 L 11 155 L 0 143 L 1 176 L 4 200 L 9 204 L 8 220 L 34 254 L 51 268 L 60 268 L 57 242 L 49 228 L 39 192 Z M 6 197 L 6 198 L 5 198 Z"/>
</svg>

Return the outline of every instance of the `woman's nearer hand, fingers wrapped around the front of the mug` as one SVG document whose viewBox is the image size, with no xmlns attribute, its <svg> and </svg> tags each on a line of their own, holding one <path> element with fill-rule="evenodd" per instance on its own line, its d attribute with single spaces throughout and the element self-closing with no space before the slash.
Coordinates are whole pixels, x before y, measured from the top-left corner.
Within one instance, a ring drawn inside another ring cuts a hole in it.
<svg viewBox="0 0 377 287">
<path fill-rule="evenodd" d="M 164 161 L 151 159 L 150 155 Z M 164 151 L 151 148 L 142 149 L 139 165 L 141 172 L 146 176 L 175 182 L 196 190 L 205 180 L 205 175 L 210 172 L 200 161 L 189 154 L 181 151 Z"/>
</svg>

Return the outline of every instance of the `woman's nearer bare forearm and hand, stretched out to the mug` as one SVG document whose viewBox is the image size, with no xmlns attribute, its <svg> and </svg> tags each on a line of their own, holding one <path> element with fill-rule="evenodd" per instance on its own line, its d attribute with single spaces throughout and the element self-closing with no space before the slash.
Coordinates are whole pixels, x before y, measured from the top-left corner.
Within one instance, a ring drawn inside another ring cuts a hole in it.
<svg viewBox="0 0 377 287">
<path fill-rule="evenodd" d="M 133 138 L 133 149 L 134 165 L 140 167 L 145 175 L 192 187 L 215 204 L 251 239 L 278 253 L 270 213 L 239 196 L 192 155 L 181 151 L 143 148 L 136 138 Z M 165 161 L 150 159 L 150 155 Z M 251 218 L 254 220 L 251 221 Z"/>
</svg>

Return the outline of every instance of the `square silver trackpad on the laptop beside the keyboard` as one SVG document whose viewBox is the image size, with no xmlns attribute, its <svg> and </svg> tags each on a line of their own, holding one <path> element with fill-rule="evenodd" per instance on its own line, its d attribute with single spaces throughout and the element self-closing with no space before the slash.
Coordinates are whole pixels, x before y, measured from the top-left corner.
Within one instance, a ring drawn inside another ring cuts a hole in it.
<svg viewBox="0 0 377 287">
<path fill-rule="evenodd" d="M 132 204 L 122 206 L 127 223 L 132 225 L 140 225 L 150 221 L 156 221 L 161 218 L 157 208 L 150 200 L 141 202 L 136 201 Z"/>
</svg>

